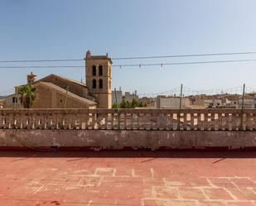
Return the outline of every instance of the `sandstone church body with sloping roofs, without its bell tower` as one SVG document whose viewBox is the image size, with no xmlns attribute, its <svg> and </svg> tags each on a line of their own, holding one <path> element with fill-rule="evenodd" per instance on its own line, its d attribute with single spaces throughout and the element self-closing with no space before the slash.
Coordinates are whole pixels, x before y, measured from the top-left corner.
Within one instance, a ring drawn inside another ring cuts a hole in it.
<svg viewBox="0 0 256 206">
<path fill-rule="evenodd" d="M 33 82 L 33 86 L 36 88 L 36 100 L 32 108 L 96 108 L 97 106 L 94 99 L 87 96 L 85 85 L 56 74 Z M 16 87 L 16 90 L 19 87 Z M 22 108 L 18 95 L 14 93 L 7 96 L 3 108 Z"/>
</svg>

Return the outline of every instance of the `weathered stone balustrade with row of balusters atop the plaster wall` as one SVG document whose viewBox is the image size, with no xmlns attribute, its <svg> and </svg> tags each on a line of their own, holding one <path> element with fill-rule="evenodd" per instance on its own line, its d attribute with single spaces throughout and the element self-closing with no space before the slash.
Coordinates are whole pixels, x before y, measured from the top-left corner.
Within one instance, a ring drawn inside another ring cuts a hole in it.
<svg viewBox="0 0 256 206">
<path fill-rule="evenodd" d="M 0 109 L 2 129 L 256 130 L 255 109 Z"/>
</svg>

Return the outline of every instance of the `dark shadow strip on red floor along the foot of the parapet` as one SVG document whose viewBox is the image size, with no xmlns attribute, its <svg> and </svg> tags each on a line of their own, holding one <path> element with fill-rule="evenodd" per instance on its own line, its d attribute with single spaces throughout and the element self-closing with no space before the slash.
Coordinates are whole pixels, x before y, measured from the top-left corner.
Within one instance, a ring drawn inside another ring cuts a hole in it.
<svg viewBox="0 0 256 206">
<path fill-rule="evenodd" d="M 0 157 L 66 158 L 256 158 L 255 151 L 0 151 Z"/>
</svg>

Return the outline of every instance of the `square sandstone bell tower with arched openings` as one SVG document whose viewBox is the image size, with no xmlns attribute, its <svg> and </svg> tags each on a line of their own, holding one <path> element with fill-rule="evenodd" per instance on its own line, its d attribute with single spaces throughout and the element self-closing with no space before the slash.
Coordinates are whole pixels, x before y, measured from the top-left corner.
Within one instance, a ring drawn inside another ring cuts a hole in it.
<svg viewBox="0 0 256 206">
<path fill-rule="evenodd" d="M 112 60 L 107 55 L 92 55 L 88 50 L 85 57 L 86 86 L 98 102 L 98 108 L 112 108 L 111 97 Z"/>
</svg>

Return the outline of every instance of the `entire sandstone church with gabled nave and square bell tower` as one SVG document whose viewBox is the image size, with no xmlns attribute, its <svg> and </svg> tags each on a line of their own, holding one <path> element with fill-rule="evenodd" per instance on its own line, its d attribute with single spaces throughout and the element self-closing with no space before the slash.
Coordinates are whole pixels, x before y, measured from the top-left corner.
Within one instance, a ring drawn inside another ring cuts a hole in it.
<svg viewBox="0 0 256 206">
<path fill-rule="evenodd" d="M 56 74 L 36 80 L 36 74 L 27 74 L 27 84 L 36 87 L 32 108 L 112 108 L 111 67 L 108 54 L 92 55 L 88 50 L 85 83 Z M 4 99 L 3 108 L 22 108 L 17 92 Z"/>
</svg>

